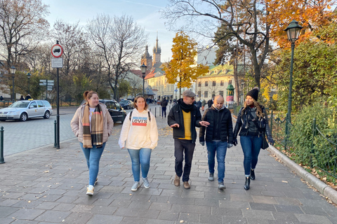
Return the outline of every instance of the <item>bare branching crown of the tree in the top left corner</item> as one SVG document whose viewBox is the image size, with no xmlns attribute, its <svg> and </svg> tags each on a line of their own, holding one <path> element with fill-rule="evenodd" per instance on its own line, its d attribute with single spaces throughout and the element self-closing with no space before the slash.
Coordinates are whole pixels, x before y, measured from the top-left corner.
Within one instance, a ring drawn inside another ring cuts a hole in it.
<svg viewBox="0 0 337 224">
<path fill-rule="evenodd" d="M 48 33 L 48 13 L 41 0 L 0 0 L 0 55 L 8 67 L 32 52 Z"/>
</svg>

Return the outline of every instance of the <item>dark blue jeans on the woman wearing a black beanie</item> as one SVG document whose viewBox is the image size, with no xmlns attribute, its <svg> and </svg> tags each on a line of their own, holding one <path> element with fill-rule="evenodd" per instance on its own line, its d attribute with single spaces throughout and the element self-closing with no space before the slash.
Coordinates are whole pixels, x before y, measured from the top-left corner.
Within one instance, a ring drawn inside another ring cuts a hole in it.
<svg viewBox="0 0 337 224">
<path fill-rule="evenodd" d="M 255 169 L 258 164 L 262 136 L 240 136 L 240 143 L 244 151 L 244 175 L 250 176 L 251 169 Z"/>
</svg>

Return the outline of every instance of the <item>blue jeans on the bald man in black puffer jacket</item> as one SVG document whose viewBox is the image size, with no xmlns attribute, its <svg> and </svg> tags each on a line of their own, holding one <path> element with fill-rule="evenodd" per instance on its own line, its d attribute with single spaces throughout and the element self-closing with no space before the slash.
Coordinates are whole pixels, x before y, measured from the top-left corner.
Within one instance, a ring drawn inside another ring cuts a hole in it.
<svg viewBox="0 0 337 224">
<path fill-rule="evenodd" d="M 218 182 L 223 182 L 225 178 L 225 157 L 227 152 L 227 142 L 206 141 L 207 154 L 209 158 L 209 172 L 214 174 L 216 160 L 218 161 Z M 216 160 L 215 160 L 216 158 Z"/>
</svg>

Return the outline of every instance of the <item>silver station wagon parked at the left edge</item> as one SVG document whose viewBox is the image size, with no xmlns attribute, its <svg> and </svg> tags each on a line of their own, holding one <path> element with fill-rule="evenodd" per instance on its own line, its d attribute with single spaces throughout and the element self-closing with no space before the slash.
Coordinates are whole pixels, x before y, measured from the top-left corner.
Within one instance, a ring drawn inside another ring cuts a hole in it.
<svg viewBox="0 0 337 224">
<path fill-rule="evenodd" d="M 51 104 L 46 100 L 22 100 L 0 109 L 0 120 L 26 121 L 28 118 L 50 118 L 53 113 Z"/>
</svg>

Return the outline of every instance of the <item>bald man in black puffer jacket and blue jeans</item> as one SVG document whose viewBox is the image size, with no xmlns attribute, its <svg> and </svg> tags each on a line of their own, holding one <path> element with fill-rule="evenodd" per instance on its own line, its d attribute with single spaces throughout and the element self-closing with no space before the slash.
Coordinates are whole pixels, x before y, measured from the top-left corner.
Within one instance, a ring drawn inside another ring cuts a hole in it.
<svg viewBox="0 0 337 224">
<path fill-rule="evenodd" d="M 227 148 L 233 146 L 233 125 L 230 111 L 226 109 L 223 103 L 223 96 L 217 95 L 214 98 L 214 104 L 206 109 L 202 120 L 208 121 L 208 127 L 201 127 L 199 132 L 199 142 L 202 146 L 205 144 L 209 158 L 209 181 L 214 181 L 214 167 L 218 161 L 218 188 L 224 190 L 225 184 L 225 157 Z"/>
</svg>

